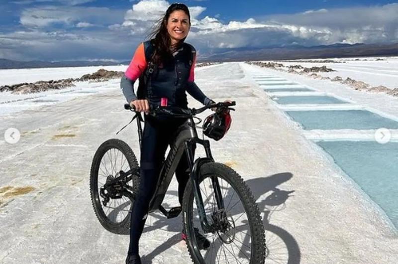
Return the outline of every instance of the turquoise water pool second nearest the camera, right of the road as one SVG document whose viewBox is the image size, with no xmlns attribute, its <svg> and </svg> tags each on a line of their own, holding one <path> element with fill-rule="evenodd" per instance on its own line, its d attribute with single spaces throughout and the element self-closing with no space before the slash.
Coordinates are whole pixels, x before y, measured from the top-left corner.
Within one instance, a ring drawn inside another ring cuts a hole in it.
<svg viewBox="0 0 398 264">
<path fill-rule="evenodd" d="M 398 129 L 398 122 L 367 110 L 287 111 L 304 130 Z"/>
</svg>

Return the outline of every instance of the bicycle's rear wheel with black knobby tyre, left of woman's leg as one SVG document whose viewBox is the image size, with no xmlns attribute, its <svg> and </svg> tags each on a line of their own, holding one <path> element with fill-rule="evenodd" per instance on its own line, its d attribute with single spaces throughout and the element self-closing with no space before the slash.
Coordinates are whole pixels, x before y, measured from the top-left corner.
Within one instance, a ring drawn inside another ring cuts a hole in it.
<svg viewBox="0 0 398 264">
<path fill-rule="evenodd" d="M 90 171 L 90 194 L 100 224 L 108 231 L 125 234 L 130 228 L 133 193 L 137 192 L 139 176 L 129 175 L 120 184 L 105 189 L 104 184 L 119 172 L 138 169 L 131 148 L 120 139 L 103 142 L 94 155 Z"/>
</svg>

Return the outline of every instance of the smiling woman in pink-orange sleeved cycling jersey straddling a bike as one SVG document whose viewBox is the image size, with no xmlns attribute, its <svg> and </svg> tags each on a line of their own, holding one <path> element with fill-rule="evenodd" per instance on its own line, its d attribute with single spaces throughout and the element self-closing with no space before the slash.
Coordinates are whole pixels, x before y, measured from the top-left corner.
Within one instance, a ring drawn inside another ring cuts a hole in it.
<svg viewBox="0 0 398 264">
<path fill-rule="evenodd" d="M 136 111 L 148 113 L 150 104 L 187 108 L 185 91 L 204 105 L 213 103 L 194 82 L 196 52 L 194 47 L 184 43 L 190 30 L 190 19 L 190 12 L 185 4 L 170 5 L 151 34 L 154 38 L 141 43 L 135 51 L 120 87 L 127 102 Z M 140 86 L 137 98 L 133 85 L 138 78 Z M 167 145 L 184 121 L 145 115 L 140 160 L 141 182 L 131 214 L 130 246 L 126 264 L 141 264 L 138 241 L 147 218 L 149 202 L 155 191 Z M 188 168 L 184 154 L 176 170 L 180 204 L 189 179 Z M 209 246 L 209 241 L 199 233 L 196 237 L 201 241 L 202 248 Z"/>
</svg>

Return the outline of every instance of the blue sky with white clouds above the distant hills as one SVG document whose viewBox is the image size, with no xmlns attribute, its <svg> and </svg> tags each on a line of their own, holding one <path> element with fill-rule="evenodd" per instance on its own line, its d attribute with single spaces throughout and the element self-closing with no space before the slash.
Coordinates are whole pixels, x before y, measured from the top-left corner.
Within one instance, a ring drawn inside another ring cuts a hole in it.
<svg viewBox="0 0 398 264">
<path fill-rule="evenodd" d="M 202 56 L 230 48 L 398 42 L 387 0 L 182 0 Z M 0 58 L 128 60 L 166 0 L 0 0 Z M 5 14 L 5 15 L 4 15 Z"/>
</svg>

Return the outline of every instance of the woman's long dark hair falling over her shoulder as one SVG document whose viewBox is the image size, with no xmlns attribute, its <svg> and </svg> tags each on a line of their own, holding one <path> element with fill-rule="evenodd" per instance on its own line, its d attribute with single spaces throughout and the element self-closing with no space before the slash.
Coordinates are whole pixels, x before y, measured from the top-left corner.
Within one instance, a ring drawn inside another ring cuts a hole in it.
<svg viewBox="0 0 398 264">
<path fill-rule="evenodd" d="M 151 59 L 155 64 L 160 64 L 172 56 L 173 50 L 170 50 L 171 39 L 167 31 L 167 21 L 169 20 L 170 14 L 176 10 L 183 10 L 188 15 L 191 25 L 191 15 L 187 5 L 183 3 L 173 3 L 167 8 L 165 15 L 155 23 L 152 32 L 148 34 L 148 38 L 153 39 L 153 44 L 155 45 L 155 51 Z M 185 38 L 179 41 L 175 50 L 181 47 L 184 40 Z"/>
</svg>

